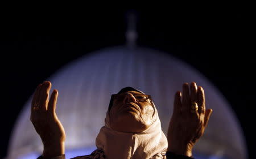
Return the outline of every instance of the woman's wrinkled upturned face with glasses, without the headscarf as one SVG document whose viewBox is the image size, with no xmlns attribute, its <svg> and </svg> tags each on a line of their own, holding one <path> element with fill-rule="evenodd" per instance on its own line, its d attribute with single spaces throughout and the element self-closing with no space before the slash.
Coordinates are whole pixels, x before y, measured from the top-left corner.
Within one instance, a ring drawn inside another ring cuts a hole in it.
<svg viewBox="0 0 256 159">
<path fill-rule="evenodd" d="M 141 132 L 152 124 L 154 108 L 150 99 L 141 100 L 139 92 L 129 91 L 115 98 L 110 109 L 110 127 L 121 132 Z"/>
</svg>

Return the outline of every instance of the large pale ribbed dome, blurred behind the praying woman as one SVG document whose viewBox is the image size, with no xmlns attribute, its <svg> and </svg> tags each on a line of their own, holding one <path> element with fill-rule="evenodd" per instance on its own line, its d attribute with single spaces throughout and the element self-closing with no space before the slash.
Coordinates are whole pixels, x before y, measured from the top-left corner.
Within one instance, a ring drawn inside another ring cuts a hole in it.
<svg viewBox="0 0 256 159">
<path fill-rule="evenodd" d="M 145 48 L 103 49 L 72 62 L 48 80 L 59 91 L 56 111 L 67 134 L 67 150 L 95 146 L 111 94 L 126 86 L 152 96 L 167 134 L 175 92 L 183 83 L 196 81 L 204 88 L 213 114 L 194 152 L 234 159 L 247 156 L 241 127 L 222 94 L 200 72 L 171 55 Z M 28 100 L 16 122 L 7 158 L 42 153 L 42 141 L 30 122 L 30 104 Z"/>
</svg>

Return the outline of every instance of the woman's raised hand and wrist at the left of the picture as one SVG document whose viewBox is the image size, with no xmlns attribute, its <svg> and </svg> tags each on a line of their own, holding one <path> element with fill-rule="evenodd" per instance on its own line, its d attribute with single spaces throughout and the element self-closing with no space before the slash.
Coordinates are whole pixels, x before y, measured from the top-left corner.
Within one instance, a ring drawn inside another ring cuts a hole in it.
<svg viewBox="0 0 256 159">
<path fill-rule="evenodd" d="M 30 121 L 43 141 L 43 156 L 46 158 L 65 153 L 65 131 L 55 113 L 58 92 L 54 89 L 49 98 L 50 89 L 49 81 L 38 85 L 32 98 L 30 116 Z"/>
</svg>

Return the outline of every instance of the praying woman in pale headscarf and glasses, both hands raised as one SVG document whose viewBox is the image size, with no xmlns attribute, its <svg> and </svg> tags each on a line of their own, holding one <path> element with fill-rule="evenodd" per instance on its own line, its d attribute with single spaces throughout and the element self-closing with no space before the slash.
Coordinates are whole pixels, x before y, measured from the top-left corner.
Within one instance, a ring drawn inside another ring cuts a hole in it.
<svg viewBox="0 0 256 159">
<path fill-rule="evenodd" d="M 40 135 L 44 151 L 39 158 L 65 158 L 65 131 L 55 113 L 57 90 L 48 100 L 51 83 L 39 84 L 31 105 L 31 122 Z M 190 89 L 190 91 L 189 91 Z M 150 159 L 191 158 L 192 148 L 203 135 L 212 113 L 205 110 L 204 90 L 196 83 L 177 91 L 167 139 L 151 97 L 126 87 L 110 99 L 105 126 L 96 138 L 96 151 L 79 158 Z M 167 153 L 166 153 L 167 151 Z"/>
</svg>

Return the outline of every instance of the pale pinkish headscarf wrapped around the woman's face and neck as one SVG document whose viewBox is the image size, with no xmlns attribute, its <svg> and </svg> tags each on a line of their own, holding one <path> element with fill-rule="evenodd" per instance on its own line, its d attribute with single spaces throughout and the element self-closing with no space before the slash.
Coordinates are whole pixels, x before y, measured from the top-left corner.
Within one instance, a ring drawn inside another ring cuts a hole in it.
<svg viewBox="0 0 256 159">
<path fill-rule="evenodd" d="M 103 151 L 107 159 L 156 159 L 166 158 L 168 142 L 164 135 L 158 111 L 155 108 L 153 122 L 147 130 L 139 133 L 126 133 L 113 130 L 109 124 L 109 110 L 105 126 L 101 127 L 96 138 L 98 150 Z"/>
</svg>

